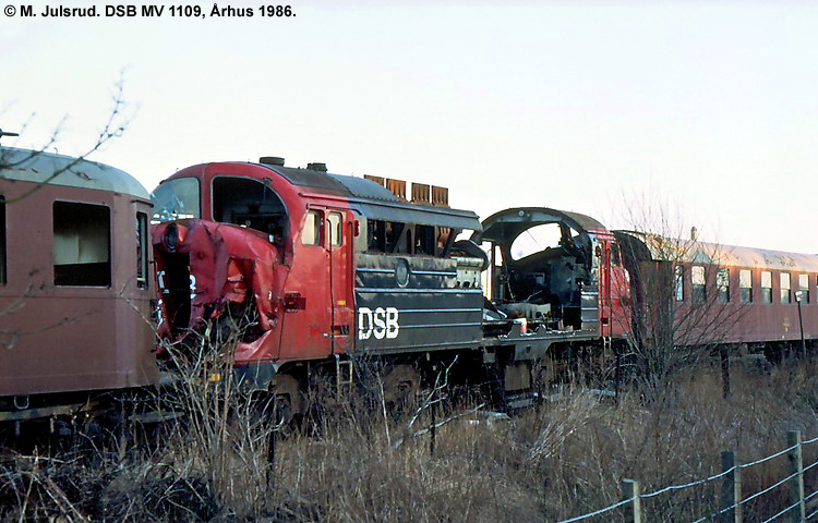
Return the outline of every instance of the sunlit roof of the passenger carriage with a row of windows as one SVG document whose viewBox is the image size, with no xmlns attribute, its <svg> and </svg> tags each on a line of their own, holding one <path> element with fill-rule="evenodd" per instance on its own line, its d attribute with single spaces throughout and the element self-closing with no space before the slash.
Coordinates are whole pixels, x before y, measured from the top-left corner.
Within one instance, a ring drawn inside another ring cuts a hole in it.
<svg viewBox="0 0 818 523">
<path fill-rule="evenodd" d="M 640 240 L 653 259 L 674 259 L 690 264 L 724 267 L 818 272 L 818 255 L 770 251 L 766 248 L 720 245 L 691 240 L 673 240 L 657 234 L 616 231 Z"/>
</svg>

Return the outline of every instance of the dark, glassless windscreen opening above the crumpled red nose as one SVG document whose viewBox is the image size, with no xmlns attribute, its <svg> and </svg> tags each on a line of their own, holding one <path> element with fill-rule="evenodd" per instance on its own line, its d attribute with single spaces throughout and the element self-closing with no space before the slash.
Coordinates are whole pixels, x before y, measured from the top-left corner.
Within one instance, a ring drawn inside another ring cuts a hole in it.
<svg viewBox="0 0 818 523">
<path fill-rule="evenodd" d="M 213 219 L 236 223 L 274 236 L 285 232 L 286 209 L 267 183 L 249 178 L 217 177 L 213 180 Z"/>
</svg>

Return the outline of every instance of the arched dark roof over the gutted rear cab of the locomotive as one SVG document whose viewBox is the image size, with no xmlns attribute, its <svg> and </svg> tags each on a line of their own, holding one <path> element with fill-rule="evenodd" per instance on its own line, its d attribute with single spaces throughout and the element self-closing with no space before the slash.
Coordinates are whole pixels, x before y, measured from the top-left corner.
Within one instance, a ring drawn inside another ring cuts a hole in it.
<svg viewBox="0 0 818 523">
<path fill-rule="evenodd" d="M 606 231 L 590 216 L 546 207 L 515 207 L 495 212 L 483 220 L 482 240 L 517 238 L 522 231 L 541 223 L 567 223 L 579 232 Z"/>
</svg>

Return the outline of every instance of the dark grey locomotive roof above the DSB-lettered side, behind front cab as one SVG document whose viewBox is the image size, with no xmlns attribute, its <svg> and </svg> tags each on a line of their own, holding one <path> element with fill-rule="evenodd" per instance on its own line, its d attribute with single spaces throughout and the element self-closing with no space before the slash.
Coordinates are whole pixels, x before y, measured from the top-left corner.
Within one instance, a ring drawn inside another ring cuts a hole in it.
<svg viewBox="0 0 818 523">
<path fill-rule="evenodd" d="M 277 172 L 293 185 L 311 187 L 316 193 L 344 196 L 349 199 L 352 208 L 368 219 L 481 230 L 480 219 L 473 211 L 407 202 L 372 180 L 310 169 L 261 166 Z"/>
</svg>

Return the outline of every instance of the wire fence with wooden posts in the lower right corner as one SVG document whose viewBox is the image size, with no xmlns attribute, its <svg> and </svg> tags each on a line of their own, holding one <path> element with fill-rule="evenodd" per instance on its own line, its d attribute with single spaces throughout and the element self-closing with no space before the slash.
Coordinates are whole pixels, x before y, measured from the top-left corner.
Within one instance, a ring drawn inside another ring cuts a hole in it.
<svg viewBox="0 0 818 523">
<path fill-rule="evenodd" d="M 745 510 L 751 502 L 757 502 L 760 498 L 763 498 L 773 491 L 778 491 L 779 489 L 787 490 L 786 497 L 789 503 L 784 508 L 780 508 L 780 510 L 778 508 L 773 509 L 778 510 L 778 512 L 770 516 L 761 518 L 758 513 L 754 513 L 753 516 L 747 518 L 747 521 L 758 521 L 762 523 L 777 521 L 818 522 L 818 519 L 816 518 L 818 516 L 818 500 L 814 501 L 814 498 L 818 496 L 818 490 L 805 495 L 804 486 L 804 479 L 807 476 L 807 472 L 810 472 L 818 466 L 818 461 L 805 466 L 803 460 L 804 448 L 816 442 L 818 442 L 818 437 L 802 440 L 799 430 L 791 430 L 787 433 L 787 446 L 783 450 L 750 463 L 743 464 L 738 463 L 735 452 L 722 452 L 722 472 L 689 483 L 670 485 L 647 494 L 641 494 L 639 491 L 638 481 L 623 479 L 623 496 L 621 501 L 592 512 L 580 514 L 567 520 L 561 520 L 557 523 L 589 522 L 603 515 L 605 516 L 605 521 L 611 521 L 611 518 L 616 516 L 619 521 L 627 523 L 645 523 L 647 521 L 674 521 L 679 523 L 742 523 L 745 521 Z M 771 484 L 761 487 L 755 492 L 743 491 L 742 474 L 745 471 L 750 471 L 760 464 L 782 457 L 786 457 L 787 462 L 787 472 L 783 477 L 779 476 L 778 479 L 773 479 Z M 813 483 L 818 485 L 818 473 L 813 473 Z M 695 489 L 696 487 L 708 486 L 708 488 L 710 488 L 711 485 L 714 487 L 714 482 L 718 482 L 719 479 L 721 481 L 721 496 L 719 497 L 720 502 L 718 503 L 718 508 L 706 511 L 706 513 L 701 514 L 698 519 L 679 520 L 673 518 L 669 520 L 666 514 L 662 513 L 661 510 L 655 510 L 653 513 L 643 510 L 642 501 L 655 501 L 673 492 Z M 774 501 L 771 502 L 774 503 Z M 810 506 L 810 509 L 814 510 L 807 512 L 807 506 Z"/>
</svg>

